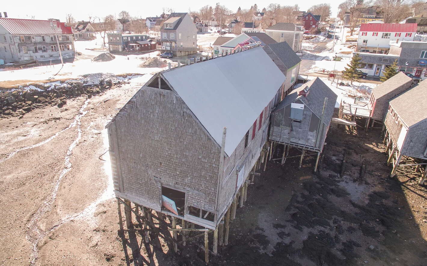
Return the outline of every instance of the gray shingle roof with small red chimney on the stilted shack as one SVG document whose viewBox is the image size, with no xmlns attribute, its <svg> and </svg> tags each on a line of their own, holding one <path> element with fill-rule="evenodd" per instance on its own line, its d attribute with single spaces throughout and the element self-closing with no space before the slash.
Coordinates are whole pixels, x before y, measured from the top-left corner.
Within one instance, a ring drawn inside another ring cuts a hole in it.
<svg viewBox="0 0 427 266">
<path fill-rule="evenodd" d="M 309 87 L 307 96 L 298 95 L 298 93 L 304 90 L 306 87 Z M 336 94 L 326 85 L 321 79 L 315 78 L 309 82 L 303 84 L 301 87 L 296 88 L 291 91 L 283 101 L 275 108 L 275 111 L 278 111 L 290 103 L 294 102 L 296 99 L 300 99 L 307 105 L 317 116 L 322 118 L 323 104 L 325 102 L 325 97 L 328 98 L 328 102 L 325 107 L 325 116 L 323 122 L 326 125 L 329 125 L 330 120 L 335 109 Z"/>
</svg>

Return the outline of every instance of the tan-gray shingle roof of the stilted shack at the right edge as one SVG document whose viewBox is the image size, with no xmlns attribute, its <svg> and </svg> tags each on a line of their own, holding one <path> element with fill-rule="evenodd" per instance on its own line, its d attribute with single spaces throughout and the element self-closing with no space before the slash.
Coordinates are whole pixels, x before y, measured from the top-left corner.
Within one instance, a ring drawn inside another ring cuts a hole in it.
<svg viewBox="0 0 427 266">
<path fill-rule="evenodd" d="M 396 96 L 390 105 L 408 126 L 427 119 L 427 81 L 424 80 L 415 87 Z"/>
</svg>

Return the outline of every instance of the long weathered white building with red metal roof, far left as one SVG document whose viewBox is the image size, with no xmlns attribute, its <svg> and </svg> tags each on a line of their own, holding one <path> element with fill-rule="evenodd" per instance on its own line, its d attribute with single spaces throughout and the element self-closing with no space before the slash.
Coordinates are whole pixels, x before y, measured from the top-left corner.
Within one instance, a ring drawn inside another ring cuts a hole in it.
<svg viewBox="0 0 427 266">
<path fill-rule="evenodd" d="M 53 20 L 0 18 L 0 58 L 6 63 L 74 57 L 71 27 Z M 58 36 L 58 42 L 56 40 Z M 59 46 L 58 46 L 59 43 Z"/>
</svg>

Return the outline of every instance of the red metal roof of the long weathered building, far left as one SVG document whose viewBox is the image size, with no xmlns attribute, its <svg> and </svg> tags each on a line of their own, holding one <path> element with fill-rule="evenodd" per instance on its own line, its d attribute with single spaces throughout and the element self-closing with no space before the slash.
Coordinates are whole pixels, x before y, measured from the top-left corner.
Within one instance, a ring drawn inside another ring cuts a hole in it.
<svg viewBox="0 0 427 266">
<path fill-rule="evenodd" d="M 0 25 L 12 34 L 38 35 L 38 34 L 73 34 L 71 27 L 64 22 L 53 21 L 56 32 L 50 26 L 50 20 L 0 18 Z"/>
</svg>

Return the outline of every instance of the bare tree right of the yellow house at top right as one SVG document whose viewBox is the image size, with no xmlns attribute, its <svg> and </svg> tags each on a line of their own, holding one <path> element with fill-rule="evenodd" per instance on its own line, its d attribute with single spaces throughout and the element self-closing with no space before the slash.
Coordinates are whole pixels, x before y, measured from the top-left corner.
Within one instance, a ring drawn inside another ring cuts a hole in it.
<svg viewBox="0 0 427 266">
<path fill-rule="evenodd" d="M 412 15 L 409 0 L 376 0 L 375 5 L 380 7 L 384 23 L 399 22 Z"/>
</svg>

